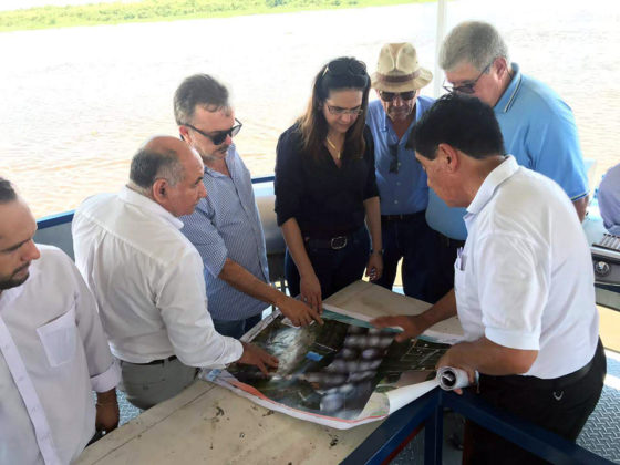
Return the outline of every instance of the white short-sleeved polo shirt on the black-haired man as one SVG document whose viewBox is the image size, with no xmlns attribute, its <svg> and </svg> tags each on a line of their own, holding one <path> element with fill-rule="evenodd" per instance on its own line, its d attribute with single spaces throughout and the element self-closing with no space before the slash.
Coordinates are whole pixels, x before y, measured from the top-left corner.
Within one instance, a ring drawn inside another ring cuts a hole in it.
<svg viewBox="0 0 620 465">
<path fill-rule="evenodd" d="M 599 337 L 591 256 L 559 185 L 509 156 L 484 180 L 465 224 L 454 285 L 466 339 L 538 350 L 527 375 L 552 379 L 587 364 Z"/>
</svg>

